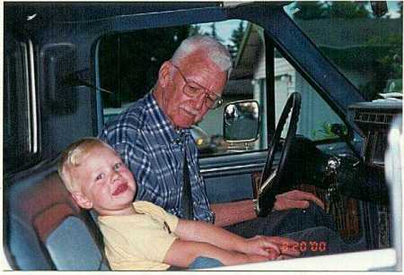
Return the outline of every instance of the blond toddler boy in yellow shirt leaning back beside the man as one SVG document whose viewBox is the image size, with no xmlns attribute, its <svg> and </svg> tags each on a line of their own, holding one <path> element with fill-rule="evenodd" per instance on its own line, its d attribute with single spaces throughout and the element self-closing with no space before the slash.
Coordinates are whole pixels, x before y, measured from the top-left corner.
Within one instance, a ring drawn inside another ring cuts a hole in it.
<svg viewBox="0 0 404 275">
<path fill-rule="evenodd" d="M 83 209 L 97 211 L 112 270 L 186 268 L 199 257 L 224 265 L 263 262 L 299 253 L 285 237 L 236 236 L 203 221 L 178 219 L 151 202 L 133 202 L 136 182 L 115 150 L 95 138 L 72 143 L 58 173 Z"/>
</svg>

